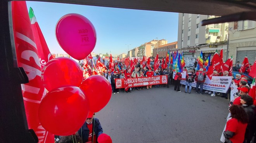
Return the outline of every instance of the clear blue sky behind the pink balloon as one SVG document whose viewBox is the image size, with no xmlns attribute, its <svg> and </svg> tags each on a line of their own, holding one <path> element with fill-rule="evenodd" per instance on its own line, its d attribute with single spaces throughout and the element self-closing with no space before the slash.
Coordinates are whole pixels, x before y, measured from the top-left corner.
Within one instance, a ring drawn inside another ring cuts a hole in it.
<svg viewBox="0 0 256 143">
<path fill-rule="evenodd" d="M 63 3 L 26 2 L 32 7 L 52 54 L 65 53 L 55 37 L 57 21 L 67 13 L 79 13 L 89 19 L 97 32 L 93 52 L 118 55 L 156 39 L 175 42 L 178 38 L 178 13 L 94 7 Z"/>
</svg>

